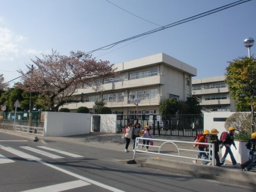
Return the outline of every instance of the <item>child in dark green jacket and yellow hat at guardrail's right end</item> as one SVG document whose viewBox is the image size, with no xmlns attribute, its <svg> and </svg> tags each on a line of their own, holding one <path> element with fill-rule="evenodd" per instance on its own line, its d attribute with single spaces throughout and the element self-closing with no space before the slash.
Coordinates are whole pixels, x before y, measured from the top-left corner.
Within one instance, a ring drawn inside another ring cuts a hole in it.
<svg viewBox="0 0 256 192">
<path fill-rule="evenodd" d="M 214 144 L 214 156 L 216 159 L 216 165 L 220 167 L 223 164 L 220 163 L 220 157 L 218 152 L 219 152 L 219 145 L 222 144 L 222 140 L 218 139 L 218 136 L 217 136 L 218 133 L 219 133 L 218 130 L 213 128 L 210 132 L 208 143 Z"/>
</svg>

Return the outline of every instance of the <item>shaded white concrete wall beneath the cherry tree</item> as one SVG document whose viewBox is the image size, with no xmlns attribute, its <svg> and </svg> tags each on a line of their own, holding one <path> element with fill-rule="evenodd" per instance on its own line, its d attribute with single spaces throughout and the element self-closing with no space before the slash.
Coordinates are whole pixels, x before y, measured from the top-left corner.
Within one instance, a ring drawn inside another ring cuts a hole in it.
<svg viewBox="0 0 256 192">
<path fill-rule="evenodd" d="M 90 133 L 90 114 L 45 112 L 46 136 L 64 137 Z"/>
</svg>

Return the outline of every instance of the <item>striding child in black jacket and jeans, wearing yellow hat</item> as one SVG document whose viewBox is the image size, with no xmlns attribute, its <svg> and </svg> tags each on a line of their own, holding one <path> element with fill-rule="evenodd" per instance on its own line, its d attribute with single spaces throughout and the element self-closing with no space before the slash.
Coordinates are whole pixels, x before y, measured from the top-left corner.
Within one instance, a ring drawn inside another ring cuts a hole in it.
<svg viewBox="0 0 256 192">
<path fill-rule="evenodd" d="M 235 147 L 236 149 L 236 144 L 234 142 L 234 133 L 235 133 L 235 128 L 233 126 L 231 126 L 229 128 L 229 133 L 226 135 L 226 138 L 225 140 L 223 141 L 222 145 L 220 146 L 220 148 L 222 148 L 223 146 L 226 147 L 226 151 L 225 151 L 225 154 L 224 156 L 221 158 L 220 160 L 220 163 L 221 164 L 224 164 L 225 160 L 226 160 L 226 157 L 228 156 L 228 154 L 230 155 L 230 158 L 231 158 L 231 161 L 232 161 L 232 164 L 233 164 L 233 167 L 236 167 L 238 165 L 240 165 L 240 163 L 237 163 L 236 162 L 236 159 L 234 158 L 234 155 L 232 153 L 232 150 L 231 150 L 231 145 L 233 144 L 233 146 Z"/>
</svg>

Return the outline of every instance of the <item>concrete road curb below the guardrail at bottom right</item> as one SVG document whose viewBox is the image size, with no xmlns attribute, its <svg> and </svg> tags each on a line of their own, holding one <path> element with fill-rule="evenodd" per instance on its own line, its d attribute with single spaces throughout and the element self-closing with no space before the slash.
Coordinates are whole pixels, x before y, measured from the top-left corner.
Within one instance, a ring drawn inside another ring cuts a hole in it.
<svg viewBox="0 0 256 192">
<path fill-rule="evenodd" d="M 256 186 L 256 174 L 239 169 L 207 166 L 162 158 L 149 158 L 146 162 L 142 162 L 141 166 L 232 184 L 244 185 L 246 183 L 250 186 Z"/>
</svg>

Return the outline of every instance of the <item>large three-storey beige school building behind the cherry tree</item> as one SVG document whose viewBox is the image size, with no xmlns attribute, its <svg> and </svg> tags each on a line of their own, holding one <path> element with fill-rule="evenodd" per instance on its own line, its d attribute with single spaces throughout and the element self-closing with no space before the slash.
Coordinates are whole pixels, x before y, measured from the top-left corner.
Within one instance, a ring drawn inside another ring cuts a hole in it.
<svg viewBox="0 0 256 192">
<path fill-rule="evenodd" d="M 192 92 L 192 76 L 196 76 L 196 68 L 164 53 L 115 64 L 116 78 L 99 79 L 102 90 L 95 92 L 84 84 L 76 95 L 84 94 L 84 102 L 70 103 L 64 107 L 76 111 L 86 106 L 92 112 L 95 100 L 104 98 L 105 106 L 111 108 L 113 114 L 159 114 L 159 102 L 164 98 L 186 100 Z"/>
</svg>

